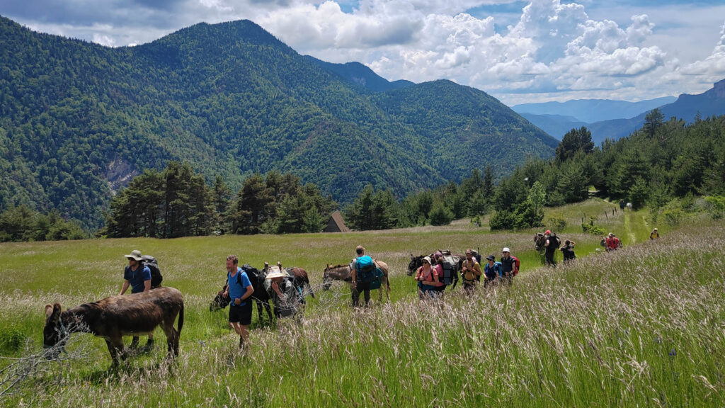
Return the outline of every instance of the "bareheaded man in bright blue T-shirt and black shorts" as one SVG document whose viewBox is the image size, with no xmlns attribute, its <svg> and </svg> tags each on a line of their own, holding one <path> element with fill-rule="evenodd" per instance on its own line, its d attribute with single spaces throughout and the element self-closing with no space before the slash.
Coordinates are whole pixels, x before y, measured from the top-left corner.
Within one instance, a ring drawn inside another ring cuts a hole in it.
<svg viewBox="0 0 725 408">
<path fill-rule="evenodd" d="M 249 281 L 247 272 L 239 267 L 239 258 L 236 255 L 227 256 L 227 287 L 223 296 L 230 298 L 229 303 L 229 325 L 239 335 L 239 348 L 244 348 L 244 343 L 249 338 L 249 325 L 252 324 L 252 299 L 249 296 L 254 293 L 252 282 Z"/>
</svg>

